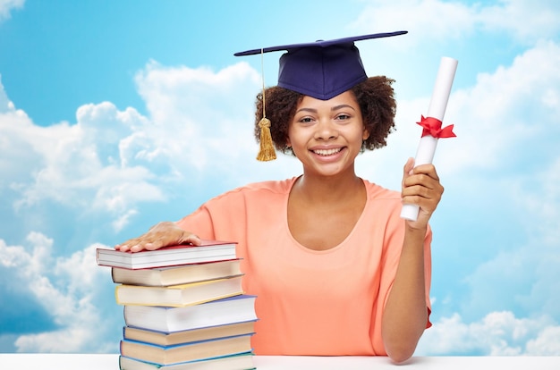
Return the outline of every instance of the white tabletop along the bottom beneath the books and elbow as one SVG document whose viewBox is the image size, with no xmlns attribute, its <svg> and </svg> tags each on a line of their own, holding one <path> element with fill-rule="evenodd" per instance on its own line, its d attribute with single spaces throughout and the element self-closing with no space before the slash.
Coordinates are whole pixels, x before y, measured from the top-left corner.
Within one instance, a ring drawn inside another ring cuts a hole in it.
<svg viewBox="0 0 560 370">
<path fill-rule="evenodd" d="M 387 357 L 256 356 L 259 370 L 398 370 Z M 530 369 L 558 370 L 560 357 L 412 357 L 403 364 L 412 369 Z M 118 355 L 0 353 L 2 370 L 118 370 Z"/>
</svg>

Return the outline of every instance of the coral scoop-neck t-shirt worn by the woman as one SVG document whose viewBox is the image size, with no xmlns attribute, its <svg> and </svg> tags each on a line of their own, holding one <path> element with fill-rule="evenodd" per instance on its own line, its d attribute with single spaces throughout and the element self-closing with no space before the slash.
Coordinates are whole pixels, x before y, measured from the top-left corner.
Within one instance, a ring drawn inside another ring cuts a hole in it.
<svg viewBox="0 0 560 370">
<path fill-rule="evenodd" d="M 335 248 L 317 251 L 301 246 L 288 228 L 295 181 L 233 189 L 178 224 L 203 239 L 239 243 L 243 289 L 258 296 L 252 338 L 257 355 L 385 356 L 381 319 L 403 247 L 400 194 L 364 181 L 367 202 L 353 230 Z M 428 229 L 428 312 L 430 242 Z"/>
</svg>

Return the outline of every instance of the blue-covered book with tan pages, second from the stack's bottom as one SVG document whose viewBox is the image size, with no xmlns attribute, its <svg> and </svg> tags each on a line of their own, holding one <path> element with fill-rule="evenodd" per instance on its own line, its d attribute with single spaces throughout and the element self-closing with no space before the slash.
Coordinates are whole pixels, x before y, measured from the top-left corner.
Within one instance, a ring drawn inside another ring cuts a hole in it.
<svg viewBox="0 0 560 370">
<path fill-rule="evenodd" d="M 252 334 L 214 339 L 210 341 L 193 341 L 175 346 L 157 346 L 141 341 L 121 341 L 121 355 L 132 357 L 159 365 L 171 365 L 181 362 L 231 356 L 252 350 Z"/>
</svg>

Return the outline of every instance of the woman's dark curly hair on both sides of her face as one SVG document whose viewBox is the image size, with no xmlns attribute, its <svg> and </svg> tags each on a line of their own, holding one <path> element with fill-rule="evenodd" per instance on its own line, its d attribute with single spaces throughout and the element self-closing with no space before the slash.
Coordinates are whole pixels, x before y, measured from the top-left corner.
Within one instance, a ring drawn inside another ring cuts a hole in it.
<svg viewBox="0 0 560 370">
<path fill-rule="evenodd" d="M 386 138 L 395 130 L 396 100 L 392 84 L 395 80 L 385 76 L 369 77 L 351 88 L 361 109 L 361 116 L 369 138 L 361 144 L 361 151 L 386 146 Z M 293 120 L 295 109 L 303 95 L 287 88 L 271 87 L 265 89 L 266 113 L 270 120 L 270 134 L 277 150 L 292 153 L 286 145 L 288 128 Z M 257 95 L 255 112 L 255 138 L 259 142 L 259 121 L 263 117 L 262 92 Z"/>
</svg>

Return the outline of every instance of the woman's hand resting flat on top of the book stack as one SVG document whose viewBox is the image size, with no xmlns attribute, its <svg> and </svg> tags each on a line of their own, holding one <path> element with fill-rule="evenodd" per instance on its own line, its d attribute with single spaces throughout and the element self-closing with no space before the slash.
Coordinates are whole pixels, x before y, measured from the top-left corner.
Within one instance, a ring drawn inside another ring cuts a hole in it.
<svg viewBox="0 0 560 370">
<path fill-rule="evenodd" d="M 149 228 L 148 232 L 138 238 L 132 238 L 115 246 L 115 249 L 126 252 L 140 252 L 140 250 L 155 250 L 177 244 L 191 243 L 199 246 L 200 238 L 190 231 L 184 231 L 176 223 L 165 221 Z"/>
</svg>

